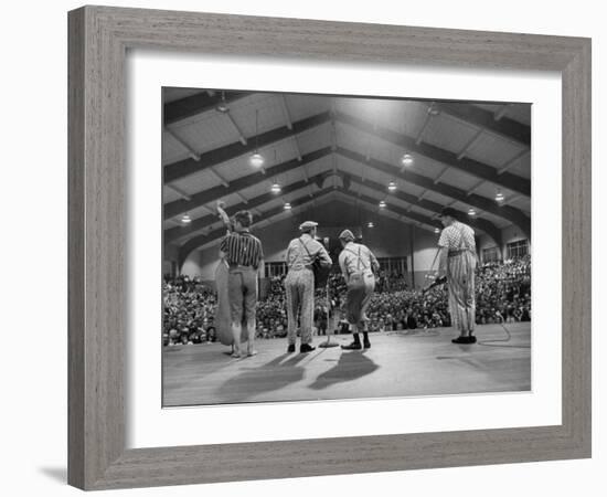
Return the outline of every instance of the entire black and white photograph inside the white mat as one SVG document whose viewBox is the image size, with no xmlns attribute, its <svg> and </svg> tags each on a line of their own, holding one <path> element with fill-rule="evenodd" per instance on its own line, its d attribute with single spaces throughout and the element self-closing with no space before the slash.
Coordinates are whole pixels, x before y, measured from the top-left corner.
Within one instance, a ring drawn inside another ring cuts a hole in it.
<svg viewBox="0 0 607 497">
<path fill-rule="evenodd" d="M 530 103 L 162 88 L 162 405 L 529 392 Z"/>
</svg>

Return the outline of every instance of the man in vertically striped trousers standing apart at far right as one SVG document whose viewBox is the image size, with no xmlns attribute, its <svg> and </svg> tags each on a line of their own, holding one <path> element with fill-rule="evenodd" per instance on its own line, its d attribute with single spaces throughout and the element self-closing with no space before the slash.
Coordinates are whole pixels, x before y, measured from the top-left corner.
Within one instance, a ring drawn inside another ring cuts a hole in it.
<svg viewBox="0 0 607 497">
<path fill-rule="evenodd" d="M 454 343 L 475 343 L 476 296 L 475 268 L 477 246 L 475 231 L 459 222 L 457 211 L 445 208 L 440 221 L 445 229 L 438 240 L 439 258 L 437 277 L 447 277 L 449 285 L 449 313 L 451 322 L 459 330 Z"/>
</svg>

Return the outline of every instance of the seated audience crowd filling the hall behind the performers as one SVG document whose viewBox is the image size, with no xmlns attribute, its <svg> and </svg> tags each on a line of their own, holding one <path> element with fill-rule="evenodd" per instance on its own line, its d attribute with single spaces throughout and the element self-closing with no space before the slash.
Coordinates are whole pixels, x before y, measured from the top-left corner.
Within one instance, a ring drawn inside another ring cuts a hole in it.
<svg viewBox="0 0 607 497">
<path fill-rule="evenodd" d="M 259 338 L 287 335 L 285 276 L 270 278 L 267 295 L 257 305 Z M 531 320 L 531 260 L 524 256 L 477 268 L 477 324 Z M 316 292 L 315 327 L 323 335 L 328 327 L 348 332 L 340 308 L 345 284 L 340 274 L 329 277 L 328 293 Z M 205 343 L 216 340 L 214 316 L 216 295 L 199 278 L 179 276 L 163 284 L 164 345 Z M 450 326 L 447 288 L 437 286 L 427 293 L 406 286 L 402 275 L 380 274 L 369 307 L 370 331 L 430 329 Z"/>
</svg>

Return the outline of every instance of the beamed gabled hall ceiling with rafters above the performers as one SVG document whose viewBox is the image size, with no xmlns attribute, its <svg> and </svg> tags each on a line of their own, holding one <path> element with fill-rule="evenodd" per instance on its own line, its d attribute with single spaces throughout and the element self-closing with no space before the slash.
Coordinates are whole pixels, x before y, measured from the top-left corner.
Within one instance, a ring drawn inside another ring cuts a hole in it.
<svg viewBox="0 0 607 497">
<path fill-rule="evenodd" d="M 530 236 L 529 104 L 164 88 L 163 119 L 164 243 L 181 260 L 224 233 L 219 199 L 258 222 L 339 200 L 429 230 L 450 205 L 498 244 L 512 224 Z"/>
</svg>

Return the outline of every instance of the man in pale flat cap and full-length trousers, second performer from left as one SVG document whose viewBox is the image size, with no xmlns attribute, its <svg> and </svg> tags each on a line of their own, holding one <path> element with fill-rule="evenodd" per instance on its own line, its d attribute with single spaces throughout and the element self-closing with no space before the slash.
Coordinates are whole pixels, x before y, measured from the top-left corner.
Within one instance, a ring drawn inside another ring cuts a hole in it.
<svg viewBox="0 0 607 497">
<path fill-rule="evenodd" d="M 287 352 L 295 352 L 297 316 L 300 313 L 301 353 L 315 349 L 312 342 L 312 324 L 315 317 L 315 274 L 312 264 L 319 261 L 322 267 L 331 267 L 329 253 L 316 240 L 318 223 L 306 221 L 299 226 L 301 236 L 290 241 L 285 260 L 288 273 L 285 278 L 287 292 Z"/>
</svg>

